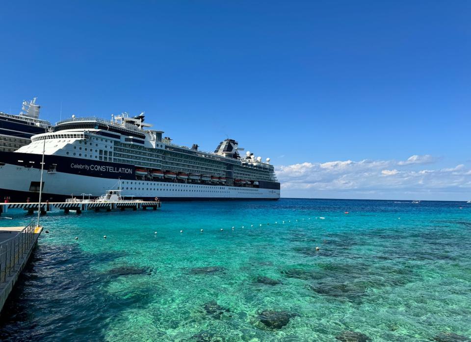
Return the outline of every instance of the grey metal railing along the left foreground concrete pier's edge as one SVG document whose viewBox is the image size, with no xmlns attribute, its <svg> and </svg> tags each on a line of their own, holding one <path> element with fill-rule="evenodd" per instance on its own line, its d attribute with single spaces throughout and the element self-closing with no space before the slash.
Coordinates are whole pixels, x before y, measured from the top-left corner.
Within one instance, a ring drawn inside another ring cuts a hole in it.
<svg viewBox="0 0 471 342">
<path fill-rule="evenodd" d="M 15 272 L 20 260 L 29 252 L 34 244 L 36 223 L 32 221 L 14 237 L 0 243 L 0 285 Z"/>
</svg>

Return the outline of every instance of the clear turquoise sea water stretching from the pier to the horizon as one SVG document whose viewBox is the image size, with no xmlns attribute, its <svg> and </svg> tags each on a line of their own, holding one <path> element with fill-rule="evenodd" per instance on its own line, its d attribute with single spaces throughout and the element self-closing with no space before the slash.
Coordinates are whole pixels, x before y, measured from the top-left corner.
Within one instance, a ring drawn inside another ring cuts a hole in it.
<svg viewBox="0 0 471 342">
<path fill-rule="evenodd" d="M 336 341 L 346 330 L 372 341 L 470 337 L 471 205 L 404 202 L 281 199 L 50 214 L 42 219 L 50 233 L 0 316 L 0 338 Z M 0 225 L 31 219 L 3 216 L 14 220 Z M 220 308 L 208 313 L 212 300 Z M 288 312 L 288 324 L 265 326 L 264 310 Z"/>
</svg>

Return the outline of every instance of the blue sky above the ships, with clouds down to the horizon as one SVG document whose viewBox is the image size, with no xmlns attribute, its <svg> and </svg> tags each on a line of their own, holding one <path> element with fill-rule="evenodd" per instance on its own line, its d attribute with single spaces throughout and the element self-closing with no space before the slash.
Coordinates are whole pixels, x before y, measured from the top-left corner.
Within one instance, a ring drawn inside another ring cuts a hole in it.
<svg viewBox="0 0 471 342">
<path fill-rule="evenodd" d="M 229 136 L 272 159 L 285 196 L 468 199 L 470 16 L 470 1 L 4 2 L 0 110 L 37 96 L 53 122 L 62 102 L 63 118 L 145 111 L 183 145 Z M 353 164 L 321 167 L 337 161 Z"/>
</svg>

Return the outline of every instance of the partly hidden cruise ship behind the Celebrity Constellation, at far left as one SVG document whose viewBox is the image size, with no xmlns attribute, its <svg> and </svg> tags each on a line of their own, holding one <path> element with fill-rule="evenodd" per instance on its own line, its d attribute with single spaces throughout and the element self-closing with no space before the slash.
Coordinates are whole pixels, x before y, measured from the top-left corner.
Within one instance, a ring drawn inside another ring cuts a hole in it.
<svg viewBox="0 0 471 342">
<path fill-rule="evenodd" d="M 23 101 L 19 115 L 0 112 L 0 151 L 12 152 L 31 142 L 35 134 L 45 133 L 52 126 L 50 122 L 39 119 L 41 106 L 37 98 Z"/>
</svg>

